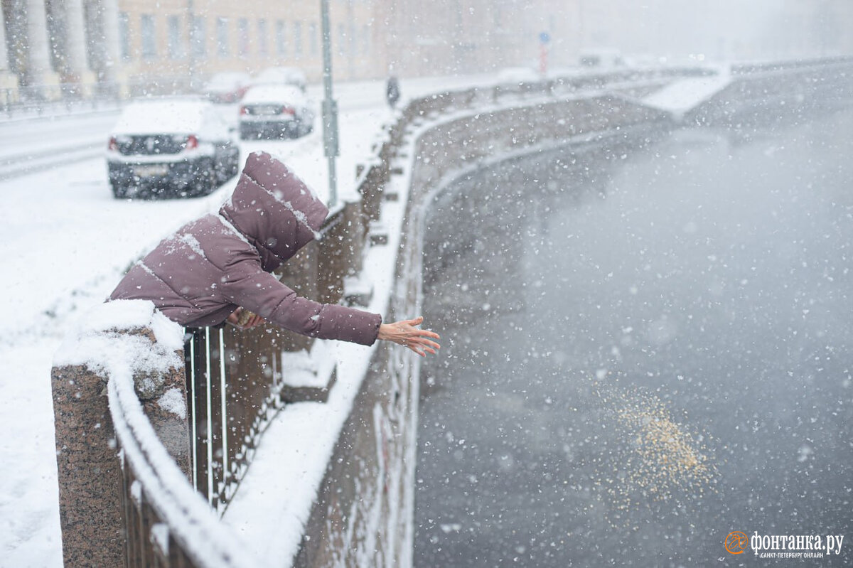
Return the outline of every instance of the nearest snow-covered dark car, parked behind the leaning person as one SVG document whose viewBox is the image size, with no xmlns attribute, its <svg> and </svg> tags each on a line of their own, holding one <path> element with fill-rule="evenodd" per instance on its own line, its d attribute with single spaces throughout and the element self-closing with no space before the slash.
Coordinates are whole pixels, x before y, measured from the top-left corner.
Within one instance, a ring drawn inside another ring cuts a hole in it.
<svg viewBox="0 0 853 568">
<path fill-rule="evenodd" d="M 240 147 L 210 101 L 131 101 L 107 148 L 116 198 L 205 195 L 240 170 Z"/>
</svg>

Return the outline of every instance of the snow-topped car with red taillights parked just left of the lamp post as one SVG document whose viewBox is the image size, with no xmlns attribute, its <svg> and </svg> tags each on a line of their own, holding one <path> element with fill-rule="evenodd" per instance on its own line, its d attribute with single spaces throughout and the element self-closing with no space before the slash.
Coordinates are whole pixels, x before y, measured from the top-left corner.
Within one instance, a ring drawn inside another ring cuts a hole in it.
<svg viewBox="0 0 853 568">
<path fill-rule="evenodd" d="M 243 140 L 298 138 L 314 130 L 314 109 L 299 87 L 260 85 L 243 96 L 239 121 Z"/>
</svg>

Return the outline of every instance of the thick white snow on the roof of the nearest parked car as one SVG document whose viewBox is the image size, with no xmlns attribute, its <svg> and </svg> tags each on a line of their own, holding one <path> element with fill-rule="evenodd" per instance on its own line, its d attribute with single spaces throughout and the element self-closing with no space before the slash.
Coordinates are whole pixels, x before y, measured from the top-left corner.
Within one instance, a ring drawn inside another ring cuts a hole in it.
<svg viewBox="0 0 853 568">
<path fill-rule="evenodd" d="M 119 115 L 113 132 L 116 134 L 193 132 L 200 129 L 210 104 L 196 99 L 132 101 Z"/>
</svg>

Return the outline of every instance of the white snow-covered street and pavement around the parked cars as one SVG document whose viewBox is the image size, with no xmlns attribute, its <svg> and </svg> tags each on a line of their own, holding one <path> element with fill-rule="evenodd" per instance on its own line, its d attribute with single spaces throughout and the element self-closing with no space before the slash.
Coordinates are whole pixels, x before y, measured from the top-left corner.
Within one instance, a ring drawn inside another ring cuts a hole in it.
<svg viewBox="0 0 853 568">
<path fill-rule="evenodd" d="M 404 81 L 403 103 L 454 84 L 486 80 Z M 357 165 L 374 155 L 374 144 L 395 118 L 386 107 L 384 88 L 382 82 L 335 86 L 340 200 L 354 195 Z M 319 101 L 319 85 L 309 94 Z M 0 192 L 6 204 L 0 212 L 6 290 L 6 317 L 0 322 L 5 369 L 0 380 L 0 568 L 62 565 L 50 369 L 63 338 L 102 304 L 132 262 L 183 223 L 215 212 L 236 182 L 197 199 L 114 200 L 103 151 L 118 113 L 104 109 L 0 119 Z M 321 128 L 296 141 L 243 142 L 241 159 L 258 149 L 286 161 L 328 199 Z M 69 155 L 78 160 L 63 164 Z M 31 171 L 3 176 L 22 166 Z"/>
</svg>

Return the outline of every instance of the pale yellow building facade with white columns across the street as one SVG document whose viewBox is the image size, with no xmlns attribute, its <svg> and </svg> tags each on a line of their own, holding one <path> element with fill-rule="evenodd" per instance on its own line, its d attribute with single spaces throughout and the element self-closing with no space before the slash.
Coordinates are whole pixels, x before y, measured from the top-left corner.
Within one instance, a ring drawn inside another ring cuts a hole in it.
<svg viewBox="0 0 853 568">
<path fill-rule="evenodd" d="M 547 32 L 567 63 L 569 3 L 328 0 L 339 80 L 534 67 Z M 188 90 L 220 71 L 295 66 L 322 77 L 320 0 L 2 0 L 0 88 Z M 563 54 L 566 53 L 564 56 Z"/>
</svg>

